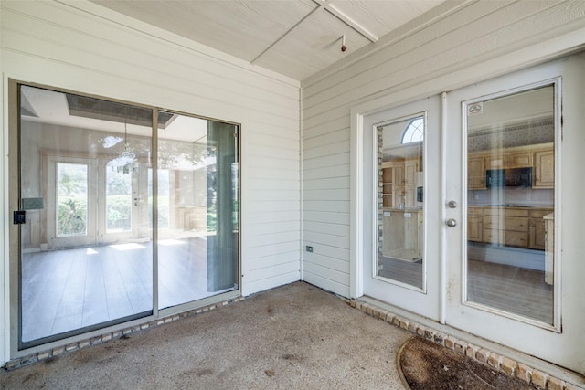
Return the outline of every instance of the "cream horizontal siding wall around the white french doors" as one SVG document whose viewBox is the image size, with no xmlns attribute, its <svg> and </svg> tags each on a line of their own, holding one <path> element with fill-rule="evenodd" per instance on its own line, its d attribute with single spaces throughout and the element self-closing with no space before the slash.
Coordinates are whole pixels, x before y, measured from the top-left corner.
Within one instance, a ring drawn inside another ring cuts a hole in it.
<svg viewBox="0 0 585 390">
<path fill-rule="evenodd" d="M 410 95 L 400 98 L 404 101 L 462 87 L 456 81 L 417 90 L 441 76 L 583 28 L 584 16 L 585 2 L 580 0 L 441 5 L 383 37 L 369 53 L 358 52 L 303 80 L 303 245 L 314 247 L 313 253 L 304 252 L 303 279 L 350 296 L 353 107 L 398 96 L 400 90 L 409 89 Z M 579 45 L 583 43 L 585 37 Z M 484 67 L 471 77 L 493 76 Z"/>
</svg>

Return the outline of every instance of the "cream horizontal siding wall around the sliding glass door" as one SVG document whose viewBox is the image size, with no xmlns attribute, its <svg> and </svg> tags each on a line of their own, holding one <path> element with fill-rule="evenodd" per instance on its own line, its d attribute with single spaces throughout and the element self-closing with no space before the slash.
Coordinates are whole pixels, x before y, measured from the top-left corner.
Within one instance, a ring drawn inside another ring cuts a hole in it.
<svg viewBox="0 0 585 390">
<path fill-rule="evenodd" d="M 89 2 L 3 1 L 1 16 L 4 80 L 242 123 L 242 291 L 300 279 L 298 81 Z"/>
</svg>

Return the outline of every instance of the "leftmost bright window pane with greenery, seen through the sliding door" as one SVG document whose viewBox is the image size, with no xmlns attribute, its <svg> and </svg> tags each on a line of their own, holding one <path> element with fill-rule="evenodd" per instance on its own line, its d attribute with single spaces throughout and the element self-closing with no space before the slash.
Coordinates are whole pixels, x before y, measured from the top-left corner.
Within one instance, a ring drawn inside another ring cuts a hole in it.
<svg viewBox="0 0 585 390">
<path fill-rule="evenodd" d="M 88 165 L 57 163 L 57 235 L 84 236 L 88 225 Z"/>
</svg>

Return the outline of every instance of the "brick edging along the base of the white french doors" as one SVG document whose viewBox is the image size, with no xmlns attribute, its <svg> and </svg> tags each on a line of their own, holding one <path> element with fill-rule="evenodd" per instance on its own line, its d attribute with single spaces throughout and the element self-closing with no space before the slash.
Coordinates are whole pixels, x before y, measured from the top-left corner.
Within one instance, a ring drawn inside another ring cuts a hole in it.
<svg viewBox="0 0 585 390">
<path fill-rule="evenodd" d="M 526 364 L 517 363 L 512 359 L 501 356 L 497 353 L 480 348 L 472 343 L 467 343 L 463 340 L 456 339 L 443 332 L 436 331 L 429 327 L 420 325 L 415 321 L 410 321 L 406 318 L 401 318 L 399 315 L 390 311 L 386 311 L 360 300 L 350 300 L 351 307 L 359 311 L 378 318 L 379 320 L 391 323 L 407 332 L 417 334 L 420 337 L 438 343 L 445 348 L 449 348 L 457 353 L 462 353 L 476 362 L 486 364 L 489 367 L 504 373 L 513 378 L 521 379 L 528 384 L 536 385 L 540 389 L 546 390 L 579 390 L 585 389 L 580 385 L 570 384 L 562 381 L 555 376 L 538 371 L 535 368 L 529 367 Z"/>
</svg>

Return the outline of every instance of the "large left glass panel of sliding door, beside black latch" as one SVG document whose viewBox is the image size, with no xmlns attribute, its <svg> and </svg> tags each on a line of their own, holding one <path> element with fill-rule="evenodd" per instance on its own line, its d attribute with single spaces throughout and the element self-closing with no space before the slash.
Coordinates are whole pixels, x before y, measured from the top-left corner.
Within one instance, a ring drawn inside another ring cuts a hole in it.
<svg viewBox="0 0 585 390">
<path fill-rule="evenodd" d="M 20 347 L 153 310 L 152 111 L 21 86 Z M 102 200 L 104 199 L 104 200 Z"/>
</svg>

